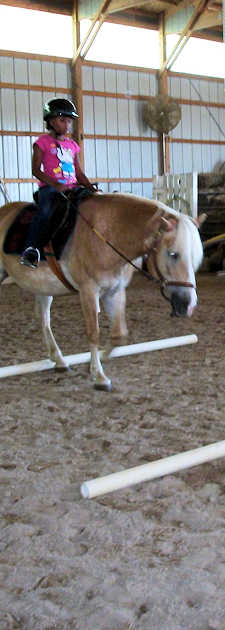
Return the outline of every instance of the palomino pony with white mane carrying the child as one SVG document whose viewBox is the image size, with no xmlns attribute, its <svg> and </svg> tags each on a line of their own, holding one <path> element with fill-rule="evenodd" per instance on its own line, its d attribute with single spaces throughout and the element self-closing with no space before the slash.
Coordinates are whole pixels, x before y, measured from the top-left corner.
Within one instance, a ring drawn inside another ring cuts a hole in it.
<svg viewBox="0 0 225 630">
<path fill-rule="evenodd" d="M 30 269 L 20 264 L 19 256 L 4 253 L 8 229 L 25 205 L 16 202 L 0 209 L 0 282 L 8 274 L 17 285 L 35 295 L 48 357 L 56 368 L 65 369 L 68 366 L 51 331 L 50 308 L 53 296 L 68 294 L 70 289 L 46 261 L 38 269 Z M 128 261 L 146 255 L 148 272 L 159 281 L 173 314 L 191 316 L 197 304 L 195 271 L 202 254 L 192 219 L 159 201 L 130 194 L 96 193 L 82 202 L 76 228 L 59 262 L 71 289 L 80 294 L 91 351 L 90 372 L 97 388 L 111 389 L 98 350 L 99 301 L 111 321 L 112 338 L 127 335 L 126 287 L 134 271 Z"/>
</svg>

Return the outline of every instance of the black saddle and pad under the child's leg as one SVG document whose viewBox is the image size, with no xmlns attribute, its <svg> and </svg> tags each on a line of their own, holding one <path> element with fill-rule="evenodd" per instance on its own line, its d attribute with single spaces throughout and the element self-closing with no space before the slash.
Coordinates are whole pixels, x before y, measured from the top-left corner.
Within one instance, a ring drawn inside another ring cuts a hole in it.
<svg viewBox="0 0 225 630">
<path fill-rule="evenodd" d="M 93 195 L 88 188 L 83 186 L 78 186 L 73 188 L 72 191 L 69 190 L 63 194 L 67 196 L 67 200 L 60 193 L 56 193 L 46 240 L 45 242 L 40 242 L 38 246 L 42 260 L 46 260 L 44 248 L 49 243 L 51 243 L 51 251 L 54 253 L 56 260 L 60 260 L 66 242 L 76 226 L 78 208 L 81 202 Z M 34 201 L 37 201 L 37 193 L 34 193 Z M 37 204 L 30 203 L 22 208 L 17 215 L 5 237 L 3 245 L 5 254 L 22 254 L 28 226 L 36 210 Z"/>
</svg>

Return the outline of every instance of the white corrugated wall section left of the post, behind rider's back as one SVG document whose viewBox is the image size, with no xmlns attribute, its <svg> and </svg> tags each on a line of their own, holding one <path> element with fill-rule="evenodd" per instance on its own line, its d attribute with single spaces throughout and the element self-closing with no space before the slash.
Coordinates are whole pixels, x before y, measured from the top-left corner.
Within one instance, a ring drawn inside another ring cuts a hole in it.
<svg viewBox="0 0 225 630">
<path fill-rule="evenodd" d="M 0 56 L 0 177 L 12 201 L 32 199 L 37 188 L 31 172 L 32 144 L 44 130 L 43 103 L 67 96 L 70 85 L 68 62 Z"/>
</svg>

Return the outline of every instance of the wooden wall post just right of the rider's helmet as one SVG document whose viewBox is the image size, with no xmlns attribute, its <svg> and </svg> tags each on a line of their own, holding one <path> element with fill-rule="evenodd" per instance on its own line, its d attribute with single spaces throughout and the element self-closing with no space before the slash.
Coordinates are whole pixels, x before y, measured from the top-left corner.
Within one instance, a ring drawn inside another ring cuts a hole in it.
<svg viewBox="0 0 225 630">
<path fill-rule="evenodd" d="M 73 59 L 71 65 L 72 100 L 74 101 L 79 118 L 74 123 L 73 137 L 80 146 L 80 163 L 84 166 L 84 129 L 83 129 L 83 95 L 82 95 L 82 59 L 77 57 L 76 51 L 80 45 L 80 23 L 78 20 L 77 1 L 74 0 L 73 13 Z"/>
</svg>

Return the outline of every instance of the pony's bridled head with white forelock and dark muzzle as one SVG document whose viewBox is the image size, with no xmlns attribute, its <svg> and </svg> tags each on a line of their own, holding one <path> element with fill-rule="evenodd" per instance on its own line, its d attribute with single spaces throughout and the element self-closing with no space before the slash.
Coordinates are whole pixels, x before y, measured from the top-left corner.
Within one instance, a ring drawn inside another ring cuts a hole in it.
<svg viewBox="0 0 225 630">
<path fill-rule="evenodd" d="M 203 257 L 198 222 L 160 204 L 151 223 L 154 237 L 149 243 L 148 271 L 159 280 L 170 301 L 171 315 L 191 317 L 197 305 L 195 271 Z"/>
</svg>

